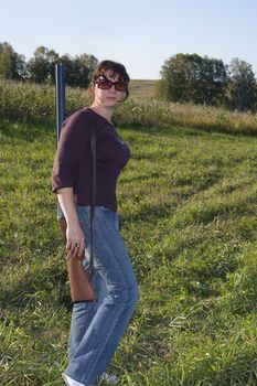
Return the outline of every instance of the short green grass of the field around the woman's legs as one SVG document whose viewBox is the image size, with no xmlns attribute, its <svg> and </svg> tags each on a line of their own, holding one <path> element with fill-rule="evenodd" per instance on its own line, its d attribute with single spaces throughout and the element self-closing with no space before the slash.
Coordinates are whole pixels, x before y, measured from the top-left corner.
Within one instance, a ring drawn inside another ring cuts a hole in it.
<svg viewBox="0 0 257 386">
<path fill-rule="evenodd" d="M 71 305 L 54 124 L 0 129 L 0 383 L 62 385 Z M 256 385 L 257 138 L 119 132 L 132 152 L 119 210 L 140 302 L 110 371 L 122 385 Z"/>
</svg>

